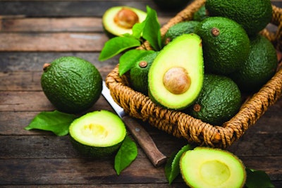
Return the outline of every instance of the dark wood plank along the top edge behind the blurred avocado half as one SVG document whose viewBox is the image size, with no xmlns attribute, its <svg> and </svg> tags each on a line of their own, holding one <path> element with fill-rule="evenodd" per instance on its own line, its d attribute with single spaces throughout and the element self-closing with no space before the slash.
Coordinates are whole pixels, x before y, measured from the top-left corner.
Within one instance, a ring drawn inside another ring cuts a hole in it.
<svg viewBox="0 0 282 188">
<path fill-rule="evenodd" d="M 131 6 L 146 11 L 154 8 L 158 15 L 175 15 L 179 10 L 161 11 L 153 1 L 0 1 L 1 15 L 28 17 L 102 17 L 112 6 Z"/>
</svg>

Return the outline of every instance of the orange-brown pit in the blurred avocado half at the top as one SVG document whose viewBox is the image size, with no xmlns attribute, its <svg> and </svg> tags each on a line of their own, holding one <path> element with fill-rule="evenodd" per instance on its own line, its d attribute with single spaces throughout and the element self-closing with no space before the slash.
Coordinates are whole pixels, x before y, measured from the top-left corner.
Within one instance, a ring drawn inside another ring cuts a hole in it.
<svg viewBox="0 0 282 188">
<path fill-rule="evenodd" d="M 139 22 L 139 18 L 134 11 L 123 7 L 114 17 L 114 22 L 120 27 L 130 29 Z"/>
</svg>

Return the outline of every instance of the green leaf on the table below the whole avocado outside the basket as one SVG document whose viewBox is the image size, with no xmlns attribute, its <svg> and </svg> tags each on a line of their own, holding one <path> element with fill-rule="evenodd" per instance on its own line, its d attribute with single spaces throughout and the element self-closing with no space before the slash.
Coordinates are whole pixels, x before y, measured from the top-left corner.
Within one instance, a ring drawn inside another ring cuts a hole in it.
<svg viewBox="0 0 282 188">
<path fill-rule="evenodd" d="M 68 134 L 68 127 L 71 125 L 76 116 L 59 111 L 41 112 L 35 116 L 30 125 L 25 130 L 47 130 L 54 132 L 57 136 Z"/>
</svg>

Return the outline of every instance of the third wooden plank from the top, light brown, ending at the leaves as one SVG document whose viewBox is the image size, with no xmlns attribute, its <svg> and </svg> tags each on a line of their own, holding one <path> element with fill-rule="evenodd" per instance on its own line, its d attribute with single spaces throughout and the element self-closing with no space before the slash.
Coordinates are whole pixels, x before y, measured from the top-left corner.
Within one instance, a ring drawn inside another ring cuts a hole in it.
<svg viewBox="0 0 282 188">
<path fill-rule="evenodd" d="M 0 51 L 94 52 L 101 51 L 107 40 L 99 33 L 0 33 Z"/>
</svg>

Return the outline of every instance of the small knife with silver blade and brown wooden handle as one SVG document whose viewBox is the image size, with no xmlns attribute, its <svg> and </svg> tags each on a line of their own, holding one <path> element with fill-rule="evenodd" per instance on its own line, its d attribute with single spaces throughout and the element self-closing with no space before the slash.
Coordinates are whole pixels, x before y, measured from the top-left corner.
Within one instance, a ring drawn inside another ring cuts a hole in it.
<svg viewBox="0 0 282 188">
<path fill-rule="evenodd" d="M 141 146 L 143 151 L 145 151 L 147 157 L 152 162 L 152 164 L 157 167 L 162 165 L 166 161 L 166 156 L 159 151 L 156 144 L 154 143 L 152 137 L 145 130 L 140 123 L 137 122 L 134 118 L 131 118 L 128 114 L 125 113 L 121 106 L 118 106 L 114 99 L 112 98 L 109 88 L 106 87 L 106 83 L 103 81 L 102 95 L 108 101 L 116 114 L 123 120 L 128 130 L 133 135 L 134 139 Z"/>
</svg>

